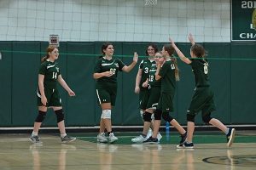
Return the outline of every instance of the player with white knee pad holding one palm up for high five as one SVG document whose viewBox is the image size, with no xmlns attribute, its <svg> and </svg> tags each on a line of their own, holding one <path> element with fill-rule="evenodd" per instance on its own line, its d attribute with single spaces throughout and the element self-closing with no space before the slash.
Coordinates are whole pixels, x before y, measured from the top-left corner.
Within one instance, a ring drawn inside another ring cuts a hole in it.
<svg viewBox="0 0 256 170">
<path fill-rule="evenodd" d="M 114 136 L 111 123 L 111 110 L 115 105 L 117 95 L 117 75 L 119 71 L 129 72 L 137 64 L 137 53 L 134 53 L 131 65 L 126 66 L 120 59 L 113 59 L 113 45 L 106 42 L 102 45 L 102 57 L 97 60 L 93 77 L 96 79 L 96 96 L 102 107 L 100 132 L 97 141 L 113 143 L 118 138 Z M 105 136 L 105 128 L 108 139 Z"/>
</svg>

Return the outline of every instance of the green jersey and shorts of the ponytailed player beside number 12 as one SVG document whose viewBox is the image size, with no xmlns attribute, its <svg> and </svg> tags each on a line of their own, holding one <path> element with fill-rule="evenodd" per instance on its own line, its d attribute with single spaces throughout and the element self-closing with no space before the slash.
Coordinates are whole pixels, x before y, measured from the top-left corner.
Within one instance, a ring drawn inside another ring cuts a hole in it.
<svg viewBox="0 0 256 170">
<path fill-rule="evenodd" d="M 161 77 L 161 93 L 158 107 L 162 112 L 173 111 L 173 98 L 176 89 L 175 65 L 172 59 L 166 60 L 161 66 L 159 75 Z"/>
</svg>

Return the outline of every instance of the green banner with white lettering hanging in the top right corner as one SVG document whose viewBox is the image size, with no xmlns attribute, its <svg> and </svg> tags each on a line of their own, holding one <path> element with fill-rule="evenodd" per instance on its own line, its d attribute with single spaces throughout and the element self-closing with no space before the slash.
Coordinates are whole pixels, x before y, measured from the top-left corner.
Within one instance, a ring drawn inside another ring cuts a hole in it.
<svg viewBox="0 0 256 170">
<path fill-rule="evenodd" d="M 231 41 L 256 41 L 256 0 L 231 1 Z"/>
</svg>

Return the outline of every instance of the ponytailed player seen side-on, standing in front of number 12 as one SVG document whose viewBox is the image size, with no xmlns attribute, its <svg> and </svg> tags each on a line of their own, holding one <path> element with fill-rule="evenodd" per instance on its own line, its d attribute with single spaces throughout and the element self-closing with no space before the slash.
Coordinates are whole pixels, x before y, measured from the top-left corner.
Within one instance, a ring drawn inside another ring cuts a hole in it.
<svg viewBox="0 0 256 170">
<path fill-rule="evenodd" d="M 169 115 L 173 111 L 173 98 L 176 89 L 176 82 L 179 80 L 179 72 L 177 68 L 177 60 L 172 57 L 174 48 L 170 45 L 165 45 L 162 48 L 163 58 L 158 60 L 157 71 L 155 72 L 155 80 L 161 80 L 160 99 L 156 110 L 154 111 L 154 130 L 150 138 L 143 141 L 143 144 L 158 144 L 157 134 L 159 133 L 161 117 L 170 122 L 173 127 L 181 135 L 180 144 L 183 144 L 186 139 L 186 131 L 180 124 Z"/>
</svg>

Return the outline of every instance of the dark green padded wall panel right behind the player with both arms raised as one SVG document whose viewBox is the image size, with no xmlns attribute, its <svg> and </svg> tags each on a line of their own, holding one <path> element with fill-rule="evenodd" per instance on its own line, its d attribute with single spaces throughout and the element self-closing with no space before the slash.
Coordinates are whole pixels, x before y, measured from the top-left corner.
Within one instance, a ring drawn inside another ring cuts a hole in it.
<svg viewBox="0 0 256 170">
<path fill-rule="evenodd" d="M 209 76 L 216 111 L 212 117 L 230 123 L 230 43 L 205 43 L 209 58 Z M 235 114 L 235 113 L 233 113 Z"/>
</svg>

